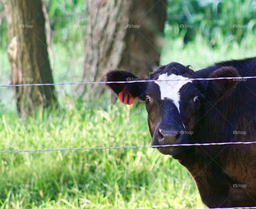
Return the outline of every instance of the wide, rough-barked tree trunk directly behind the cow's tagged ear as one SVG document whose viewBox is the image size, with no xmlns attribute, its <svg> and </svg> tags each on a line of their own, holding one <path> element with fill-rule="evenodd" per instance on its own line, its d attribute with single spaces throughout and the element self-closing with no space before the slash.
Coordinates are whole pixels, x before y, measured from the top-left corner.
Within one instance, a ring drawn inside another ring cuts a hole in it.
<svg viewBox="0 0 256 209">
<path fill-rule="evenodd" d="M 159 66 L 165 5 L 166 0 L 88 0 L 83 80 L 103 81 L 113 69 L 148 77 Z"/>
</svg>

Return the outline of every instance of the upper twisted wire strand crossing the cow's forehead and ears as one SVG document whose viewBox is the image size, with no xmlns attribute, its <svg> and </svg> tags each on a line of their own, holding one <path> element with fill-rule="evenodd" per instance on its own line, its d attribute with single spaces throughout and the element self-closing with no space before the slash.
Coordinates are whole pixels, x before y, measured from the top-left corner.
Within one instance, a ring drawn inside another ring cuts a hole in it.
<svg viewBox="0 0 256 209">
<path fill-rule="evenodd" d="M 99 82 L 80 82 L 80 83 L 31 83 L 31 84 L 16 84 L 16 85 L 1 85 L 0 87 L 14 87 L 14 86 L 57 86 L 57 85 L 76 85 L 76 84 L 97 84 L 97 83 L 136 83 L 136 82 L 154 82 L 154 81 L 194 81 L 194 80 L 221 80 L 221 79 L 242 79 L 256 78 L 256 76 L 250 77 L 226 77 L 226 78 L 189 78 L 189 79 L 177 79 L 177 80 L 136 80 L 136 81 L 99 81 Z M 245 81 L 245 80 L 244 80 Z"/>
</svg>

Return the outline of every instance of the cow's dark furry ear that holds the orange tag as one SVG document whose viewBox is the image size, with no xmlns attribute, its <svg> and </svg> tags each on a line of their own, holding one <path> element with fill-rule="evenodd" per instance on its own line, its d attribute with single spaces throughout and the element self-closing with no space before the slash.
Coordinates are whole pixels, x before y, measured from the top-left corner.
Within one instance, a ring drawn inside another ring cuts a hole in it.
<svg viewBox="0 0 256 209">
<path fill-rule="evenodd" d="M 106 74 L 106 81 L 139 81 L 140 79 L 134 74 L 124 70 L 113 70 Z M 107 83 L 107 85 L 118 95 L 123 92 L 123 95 L 130 93 L 133 97 L 144 99 L 146 94 L 147 82 L 134 83 Z M 119 95 L 120 96 L 120 95 Z"/>
</svg>

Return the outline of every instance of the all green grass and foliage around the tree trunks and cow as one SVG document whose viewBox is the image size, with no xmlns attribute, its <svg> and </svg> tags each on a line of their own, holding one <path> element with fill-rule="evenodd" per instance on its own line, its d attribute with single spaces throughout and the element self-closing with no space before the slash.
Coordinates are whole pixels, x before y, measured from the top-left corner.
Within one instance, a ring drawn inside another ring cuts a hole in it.
<svg viewBox="0 0 256 209">
<path fill-rule="evenodd" d="M 216 61 L 255 56 L 255 2 L 215 2 L 168 1 L 161 64 L 176 61 L 198 70 Z M 56 0 L 47 10 L 54 81 L 73 82 L 81 77 L 86 33 L 73 24 L 86 24 L 84 1 Z M 0 45 L 3 85 L 10 83 L 5 19 Z M 57 86 L 61 110 L 25 119 L 15 113 L 12 89 L 1 87 L 0 150 L 150 145 L 143 104 L 111 104 L 110 92 L 101 98 L 90 92 L 81 101 L 77 88 Z M 187 170 L 152 148 L 2 153 L 0 170 L 0 208 L 204 207 Z"/>
</svg>

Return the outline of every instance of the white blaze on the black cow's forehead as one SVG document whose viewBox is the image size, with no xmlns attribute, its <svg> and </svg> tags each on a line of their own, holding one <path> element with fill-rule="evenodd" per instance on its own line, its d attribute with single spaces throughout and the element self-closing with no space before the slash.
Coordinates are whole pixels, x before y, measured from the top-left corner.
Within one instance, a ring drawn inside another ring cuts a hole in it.
<svg viewBox="0 0 256 209">
<path fill-rule="evenodd" d="M 169 76 L 167 73 L 162 74 L 158 77 L 157 80 L 181 80 L 181 81 L 155 81 L 155 83 L 160 87 L 161 99 L 171 99 L 175 106 L 178 108 L 179 111 L 179 101 L 180 95 L 179 90 L 182 86 L 186 83 L 192 83 L 192 81 L 186 81 L 189 78 L 183 76 L 177 76 L 175 74 L 170 74 Z M 185 80 L 185 81 L 184 81 Z"/>
</svg>

